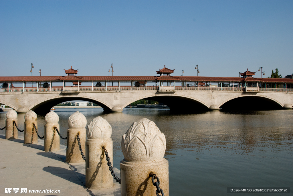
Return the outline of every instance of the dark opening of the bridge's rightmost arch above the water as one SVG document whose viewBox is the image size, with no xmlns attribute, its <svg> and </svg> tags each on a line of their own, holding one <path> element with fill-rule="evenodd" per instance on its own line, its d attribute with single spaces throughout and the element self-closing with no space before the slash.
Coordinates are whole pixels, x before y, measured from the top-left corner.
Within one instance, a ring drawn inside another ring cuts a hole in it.
<svg viewBox="0 0 293 196">
<path fill-rule="evenodd" d="M 224 103 L 222 110 L 279 110 L 282 105 L 269 98 L 260 96 L 244 96 Z"/>
</svg>

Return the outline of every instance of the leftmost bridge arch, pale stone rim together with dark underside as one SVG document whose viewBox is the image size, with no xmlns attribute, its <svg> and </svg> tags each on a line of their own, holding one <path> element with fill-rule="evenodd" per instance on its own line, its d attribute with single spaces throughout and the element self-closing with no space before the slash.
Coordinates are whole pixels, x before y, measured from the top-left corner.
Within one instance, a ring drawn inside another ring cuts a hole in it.
<svg viewBox="0 0 293 196">
<path fill-rule="evenodd" d="M 93 98 L 93 97 L 80 96 L 80 95 L 74 95 L 74 96 L 60 95 L 60 96 L 53 96 L 51 98 L 47 98 L 47 99 L 43 99 L 41 101 L 38 101 L 38 102 L 34 103 L 33 105 L 31 105 L 28 108 L 28 110 L 45 110 L 45 112 L 47 112 L 47 110 L 50 110 L 50 108 L 54 107 L 58 103 L 62 103 L 65 101 L 72 101 L 72 100 L 90 101 L 90 102 L 93 102 L 93 103 L 100 105 L 105 110 L 112 109 L 112 107 L 110 105 L 108 105 L 107 103 L 105 103 L 101 100 L 98 100 L 96 98 Z"/>
</svg>

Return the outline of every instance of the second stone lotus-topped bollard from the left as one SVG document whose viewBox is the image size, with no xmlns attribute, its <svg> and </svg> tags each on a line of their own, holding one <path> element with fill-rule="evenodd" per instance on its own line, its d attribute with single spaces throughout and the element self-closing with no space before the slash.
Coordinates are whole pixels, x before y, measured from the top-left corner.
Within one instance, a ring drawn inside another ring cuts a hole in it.
<svg viewBox="0 0 293 196">
<path fill-rule="evenodd" d="M 37 121 L 37 114 L 32 110 L 28 111 L 24 115 L 24 143 L 25 144 L 37 144 L 38 143 L 38 136 L 35 131 L 35 124 L 36 128 L 38 129 L 38 121 Z"/>
</svg>

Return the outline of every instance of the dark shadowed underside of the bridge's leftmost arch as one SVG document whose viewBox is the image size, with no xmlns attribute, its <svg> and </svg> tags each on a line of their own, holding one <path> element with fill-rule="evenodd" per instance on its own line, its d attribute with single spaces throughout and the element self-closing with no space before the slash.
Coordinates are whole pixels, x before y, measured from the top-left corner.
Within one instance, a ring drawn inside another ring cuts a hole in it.
<svg viewBox="0 0 293 196">
<path fill-rule="evenodd" d="M 111 108 L 109 108 L 107 105 L 91 99 L 91 98 L 83 98 L 83 97 L 58 97 L 58 98 L 53 98 L 50 100 L 46 100 L 43 101 L 42 103 L 39 103 L 35 106 L 33 106 L 32 108 L 29 108 L 30 110 L 35 111 L 35 113 L 38 114 L 43 114 L 43 113 L 48 113 L 50 112 L 50 109 L 53 108 L 55 105 L 59 104 L 59 103 L 63 103 L 63 102 L 68 102 L 68 101 L 73 101 L 73 100 L 81 100 L 81 101 L 87 101 L 87 102 L 92 102 L 92 103 L 96 103 L 99 106 L 101 106 L 104 111 L 109 111 Z"/>
</svg>

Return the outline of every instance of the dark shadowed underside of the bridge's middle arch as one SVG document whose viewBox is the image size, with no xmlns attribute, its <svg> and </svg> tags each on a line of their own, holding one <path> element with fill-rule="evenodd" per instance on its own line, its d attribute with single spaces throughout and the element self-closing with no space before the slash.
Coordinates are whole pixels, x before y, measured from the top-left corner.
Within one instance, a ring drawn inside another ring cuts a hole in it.
<svg viewBox="0 0 293 196">
<path fill-rule="evenodd" d="M 158 103 L 163 103 L 164 105 L 167 105 L 172 112 L 190 113 L 190 112 L 196 112 L 196 111 L 209 109 L 206 105 L 204 105 L 203 103 L 200 103 L 197 100 L 187 98 L 187 97 L 181 97 L 181 96 L 152 96 L 152 97 L 141 98 L 137 100 L 152 100 Z M 134 100 L 134 101 L 137 101 L 137 100 Z M 130 105 L 130 104 L 127 104 L 127 105 Z"/>
</svg>

